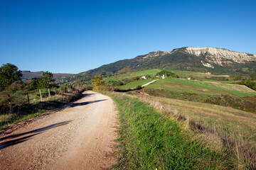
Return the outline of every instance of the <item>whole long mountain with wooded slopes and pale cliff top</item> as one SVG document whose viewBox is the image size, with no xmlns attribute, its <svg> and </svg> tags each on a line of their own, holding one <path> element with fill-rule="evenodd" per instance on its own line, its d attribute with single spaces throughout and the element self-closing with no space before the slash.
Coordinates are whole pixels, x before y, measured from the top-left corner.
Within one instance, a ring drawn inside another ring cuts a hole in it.
<svg viewBox="0 0 256 170">
<path fill-rule="evenodd" d="M 214 47 L 181 47 L 170 52 L 149 52 L 133 59 L 119 60 L 80 75 L 112 75 L 159 68 L 215 74 L 252 74 L 256 73 L 256 55 Z"/>
</svg>

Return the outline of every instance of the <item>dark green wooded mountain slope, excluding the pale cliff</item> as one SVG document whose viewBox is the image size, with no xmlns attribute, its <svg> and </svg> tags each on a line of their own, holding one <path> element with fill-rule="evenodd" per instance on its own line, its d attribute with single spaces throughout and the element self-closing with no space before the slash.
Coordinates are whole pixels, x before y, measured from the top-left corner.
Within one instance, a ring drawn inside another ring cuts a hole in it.
<svg viewBox="0 0 256 170">
<path fill-rule="evenodd" d="M 193 72 L 212 72 L 215 74 L 252 74 L 256 73 L 256 63 L 238 64 L 234 63 L 232 67 L 223 67 L 213 64 L 213 68 L 204 67 L 201 61 L 207 62 L 205 56 L 197 57 L 184 52 L 180 48 L 171 54 L 159 52 L 160 55 L 146 57 L 139 55 L 129 60 L 119 60 L 110 64 L 102 65 L 96 69 L 82 72 L 83 76 L 114 75 L 127 72 L 140 72 L 148 69 L 176 69 Z"/>
</svg>

